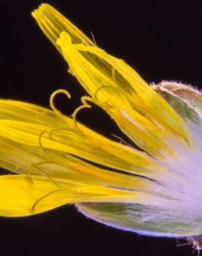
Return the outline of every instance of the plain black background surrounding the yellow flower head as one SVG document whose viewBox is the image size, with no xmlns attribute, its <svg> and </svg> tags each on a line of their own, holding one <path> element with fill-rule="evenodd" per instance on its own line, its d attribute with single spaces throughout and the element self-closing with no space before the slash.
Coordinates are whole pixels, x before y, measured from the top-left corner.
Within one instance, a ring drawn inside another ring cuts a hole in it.
<svg viewBox="0 0 202 256">
<path fill-rule="evenodd" d="M 86 94 L 30 12 L 41 1 L 0 2 L 1 98 L 48 107 L 55 89 L 68 89 L 72 100 L 58 96 L 67 114 Z M 175 80 L 202 85 L 202 12 L 196 1 L 48 1 L 109 53 L 127 60 L 147 82 Z M 95 107 L 79 119 L 109 136 L 119 131 Z M 1 255 L 191 255 L 176 239 L 143 237 L 102 226 L 73 205 L 35 217 L 0 219 Z"/>
</svg>

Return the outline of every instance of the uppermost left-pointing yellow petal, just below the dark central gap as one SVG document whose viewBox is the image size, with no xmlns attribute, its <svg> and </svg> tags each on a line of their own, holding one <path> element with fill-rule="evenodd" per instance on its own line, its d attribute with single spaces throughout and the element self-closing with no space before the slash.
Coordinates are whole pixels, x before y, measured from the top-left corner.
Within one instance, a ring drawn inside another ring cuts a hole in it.
<svg viewBox="0 0 202 256">
<path fill-rule="evenodd" d="M 33 109 L 35 109 L 34 112 Z M 10 120 L 0 119 L 0 141 L 3 138 L 10 140 L 10 142 L 6 141 L 7 144 L 5 144 L 5 141 L 2 140 L 0 144 L 1 152 L 6 154 L 6 156 L 3 155 L 2 161 L 5 157 L 10 159 L 12 154 L 16 158 L 22 155 L 22 158 L 24 157 L 26 160 L 28 154 L 31 154 L 33 163 L 37 163 L 37 159 L 44 158 L 42 156 L 43 147 L 44 149 L 73 154 L 102 166 L 135 174 L 154 176 L 153 170 L 160 172 L 162 169 L 143 152 L 104 138 L 78 123 L 84 134 L 82 136 L 71 118 L 66 117 L 63 120 L 48 109 L 24 102 L 1 100 L 0 118 L 6 118 L 6 116 Z M 19 143 L 19 145 L 16 146 L 15 143 L 12 145 L 12 141 Z M 24 146 L 20 146 L 22 144 Z M 17 147 L 19 148 L 18 151 L 16 150 Z M 37 148 L 35 149 L 37 154 L 33 155 L 33 147 Z M 27 153 L 23 154 L 25 150 Z"/>
</svg>

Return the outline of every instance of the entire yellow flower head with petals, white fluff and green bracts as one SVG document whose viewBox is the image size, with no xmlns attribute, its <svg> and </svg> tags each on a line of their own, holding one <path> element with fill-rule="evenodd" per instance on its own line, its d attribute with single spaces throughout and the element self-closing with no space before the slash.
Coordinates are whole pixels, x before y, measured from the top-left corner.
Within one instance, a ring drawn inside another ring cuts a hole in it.
<svg viewBox="0 0 202 256">
<path fill-rule="evenodd" d="M 201 93 L 184 84 L 150 86 L 98 48 L 48 4 L 39 27 L 89 93 L 71 118 L 55 108 L 0 100 L 0 215 L 37 214 L 75 203 L 86 216 L 145 235 L 201 235 Z M 137 147 L 77 122 L 96 104 Z M 194 238 L 193 238 L 194 239 Z"/>
</svg>

